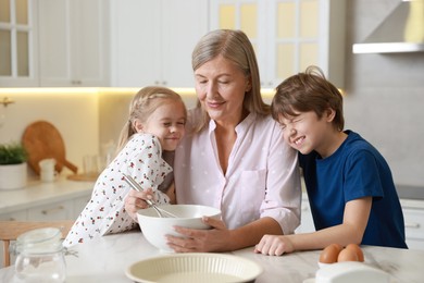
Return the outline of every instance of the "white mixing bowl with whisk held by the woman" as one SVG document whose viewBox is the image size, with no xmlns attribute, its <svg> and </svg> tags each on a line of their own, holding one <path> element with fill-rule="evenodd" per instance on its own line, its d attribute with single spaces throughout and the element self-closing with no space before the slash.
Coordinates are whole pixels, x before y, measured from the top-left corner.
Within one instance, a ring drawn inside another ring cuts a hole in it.
<svg viewBox="0 0 424 283">
<path fill-rule="evenodd" d="M 161 251 L 173 253 L 166 245 L 165 235 L 182 236 L 174 226 L 191 229 L 210 229 L 202 222 L 202 217 L 221 218 L 221 210 L 213 207 L 196 205 L 164 205 L 162 209 L 178 218 L 160 218 L 153 208 L 137 211 L 137 219 L 146 239 Z"/>
</svg>

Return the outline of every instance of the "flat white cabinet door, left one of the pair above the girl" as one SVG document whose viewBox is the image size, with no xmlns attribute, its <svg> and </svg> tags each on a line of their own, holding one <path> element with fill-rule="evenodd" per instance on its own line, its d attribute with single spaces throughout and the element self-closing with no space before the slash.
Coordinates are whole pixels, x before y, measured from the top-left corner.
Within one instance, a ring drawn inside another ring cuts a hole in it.
<svg viewBox="0 0 424 283">
<path fill-rule="evenodd" d="M 159 84 L 161 1 L 111 2 L 112 86 Z"/>
</svg>

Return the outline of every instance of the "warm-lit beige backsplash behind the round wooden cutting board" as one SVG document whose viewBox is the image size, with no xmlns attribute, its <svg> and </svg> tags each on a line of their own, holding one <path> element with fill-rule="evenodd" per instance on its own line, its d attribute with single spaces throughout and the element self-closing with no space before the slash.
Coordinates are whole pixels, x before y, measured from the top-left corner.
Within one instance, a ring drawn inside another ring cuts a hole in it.
<svg viewBox="0 0 424 283">
<path fill-rule="evenodd" d="M 41 91 L 0 88 L 0 99 L 9 97 L 14 101 L 8 107 L 0 104 L 0 143 L 20 142 L 30 123 L 45 120 L 61 133 L 66 159 L 82 169 L 83 156 L 99 150 L 98 95 L 60 88 L 38 90 Z"/>
</svg>

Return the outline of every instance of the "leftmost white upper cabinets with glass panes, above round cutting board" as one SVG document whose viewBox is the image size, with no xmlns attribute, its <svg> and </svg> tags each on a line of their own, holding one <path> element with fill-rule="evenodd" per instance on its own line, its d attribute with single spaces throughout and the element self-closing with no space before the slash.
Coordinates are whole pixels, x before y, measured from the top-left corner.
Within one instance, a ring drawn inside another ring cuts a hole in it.
<svg viewBox="0 0 424 283">
<path fill-rule="evenodd" d="M 109 1 L 0 1 L 0 86 L 108 86 Z"/>
</svg>

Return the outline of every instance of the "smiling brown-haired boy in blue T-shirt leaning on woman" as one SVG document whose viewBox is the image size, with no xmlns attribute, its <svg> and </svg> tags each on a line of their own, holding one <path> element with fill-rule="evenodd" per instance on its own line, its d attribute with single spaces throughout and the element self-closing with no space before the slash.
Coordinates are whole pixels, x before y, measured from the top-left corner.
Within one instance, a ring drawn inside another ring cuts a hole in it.
<svg viewBox="0 0 424 283">
<path fill-rule="evenodd" d="M 359 134 L 342 131 L 342 97 L 321 70 L 310 66 L 284 81 L 272 109 L 299 151 L 316 232 L 265 235 L 255 251 L 279 256 L 332 243 L 407 248 L 390 169 Z"/>
</svg>

